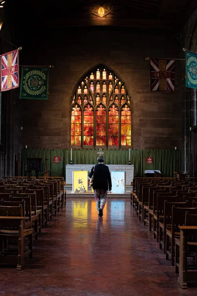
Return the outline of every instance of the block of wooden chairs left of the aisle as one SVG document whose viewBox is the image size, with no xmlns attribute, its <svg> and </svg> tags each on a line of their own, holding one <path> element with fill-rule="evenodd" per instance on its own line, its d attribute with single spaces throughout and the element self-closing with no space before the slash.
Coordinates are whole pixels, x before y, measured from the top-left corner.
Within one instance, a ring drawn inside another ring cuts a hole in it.
<svg viewBox="0 0 197 296">
<path fill-rule="evenodd" d="M 66 191 L 61 187 L 54 190 L 57 184 L 33 180 L 32 189 L 7 188 L 9 192 L 0 193 L 0 264 L 16 263 L 17 269 L 21 269 L 24 256 L 29 254 L 32 258 L 33 237 L 37 240 L 41 228 L 60 211 L 61 204 L 66 204 Z"/>
</svg>

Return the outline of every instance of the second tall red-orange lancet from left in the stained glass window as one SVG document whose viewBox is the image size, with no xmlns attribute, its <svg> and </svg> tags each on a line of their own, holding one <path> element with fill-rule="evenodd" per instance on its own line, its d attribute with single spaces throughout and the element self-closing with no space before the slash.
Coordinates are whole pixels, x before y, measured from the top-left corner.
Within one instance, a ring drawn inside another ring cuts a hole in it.
<svg viewBox="0 0 197 296">
<path fill-rule="evenodd" d="M 90 105 L 83 115 L 83 145 L 94 145 L 94 111 Z"/>
</svg>

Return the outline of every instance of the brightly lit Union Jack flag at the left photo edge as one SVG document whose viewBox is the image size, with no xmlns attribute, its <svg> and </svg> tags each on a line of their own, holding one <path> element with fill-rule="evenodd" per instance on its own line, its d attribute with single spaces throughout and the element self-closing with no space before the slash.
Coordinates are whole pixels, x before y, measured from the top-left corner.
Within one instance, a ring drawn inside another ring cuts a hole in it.
<svg viewBox="0 0 197 296">
<path fill-rule="evenodd" d="M 0 57 L 1 91 L 19 87 L 18 49 L 7 52 Z"/>
</svg>

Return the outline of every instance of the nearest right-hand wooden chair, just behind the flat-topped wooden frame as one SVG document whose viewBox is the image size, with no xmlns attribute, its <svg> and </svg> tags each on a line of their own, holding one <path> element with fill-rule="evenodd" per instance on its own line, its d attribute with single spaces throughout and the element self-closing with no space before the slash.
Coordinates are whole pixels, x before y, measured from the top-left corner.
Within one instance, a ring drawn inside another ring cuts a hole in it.
<svg viewBox="0 0 197 296">
<path fill-rule="evenodd" d="M 185 213 L 197 214 L 197 208 L 176 208 L 172 206 L 172 222 L 171 229 L 166 229 L 166 240 L 165 240 L 165 258 L 168 259 L 171 254 L 171 265 L 174 265 L 174 243 L 175 237 L 180 236 L 179 225 L 184 225 L 185 223 Z M 169 239 L 171 238 L 171 252 L 169 251 Z"/>
</svg>

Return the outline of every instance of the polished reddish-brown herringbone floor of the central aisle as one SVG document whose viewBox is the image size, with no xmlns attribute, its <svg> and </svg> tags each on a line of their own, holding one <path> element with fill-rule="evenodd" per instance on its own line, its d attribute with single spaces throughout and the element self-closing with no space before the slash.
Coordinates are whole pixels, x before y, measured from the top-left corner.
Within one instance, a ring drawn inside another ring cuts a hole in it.
<svg viewBox="0 0 197 296">
<path fill-rule="evenodd" d="M 197 296 L 181 289 L 129 199 L 108 199 L 102 218 L 93 199 L 67 199 L 33 243 L 23 270 L 0 268 L 0 295 Z"/>
</svg>

